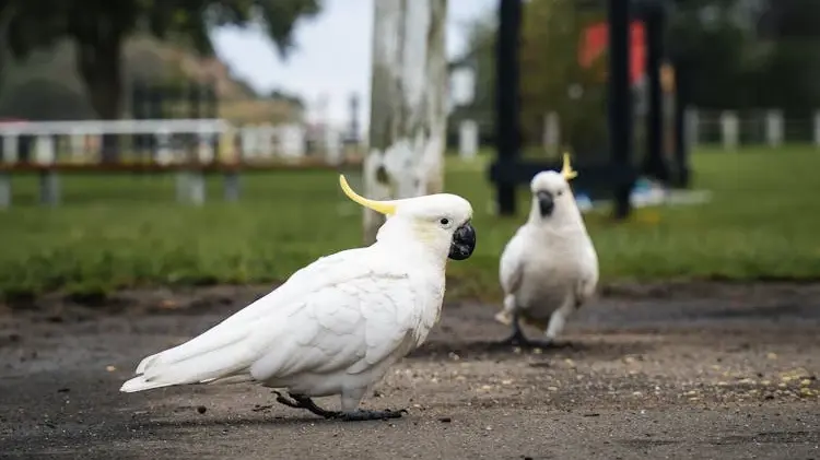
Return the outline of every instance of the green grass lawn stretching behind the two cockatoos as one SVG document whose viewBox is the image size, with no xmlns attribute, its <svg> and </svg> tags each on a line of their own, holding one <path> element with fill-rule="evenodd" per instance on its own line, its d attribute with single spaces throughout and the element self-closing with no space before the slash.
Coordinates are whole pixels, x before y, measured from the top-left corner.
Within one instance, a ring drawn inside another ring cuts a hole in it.
<svg viewBox="0 0 820 460">
<path fill-rule="evenodd" d="M 447 191 L 476 210 L 478 248 L 450 263 L 450 296 L 496 298 L 497 258 L 520 215 L 490 213 L 487 158 L 448 160 Z M 694 188 L 712 202 L 643 209 L 628 223 L 588 214 L 605 282 L 652 279 L 820 278 L 820 152 L 810 148 L 693 157 Z M 7 295 L 105 293 L 144 285 L 268 283 L 317 257 L 361 243 L 358 205 L 333 173 L 254 174 L 238 203 L 209 182 L 201 209 L 174 202 L 172 177 L 65 176 L 63 204 L 36 204 L 36 181 L 14 179 L 0 211 L 0 291 Z M 522 200 L 527 200 L 522 190 Z"/>
</svg>

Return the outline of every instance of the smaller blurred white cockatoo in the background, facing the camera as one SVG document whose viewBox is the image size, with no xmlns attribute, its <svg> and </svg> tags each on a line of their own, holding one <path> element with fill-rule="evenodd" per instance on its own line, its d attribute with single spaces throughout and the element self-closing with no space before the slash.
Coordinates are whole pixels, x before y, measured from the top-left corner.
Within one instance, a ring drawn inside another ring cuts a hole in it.
<svg viewBox="0 0 820 460">
<path fill-rule="evenodd" d="M 503 309 L 495 319 L 513 327 L 505 343 L 550 346 L 566 318 L 589 300 L 598 284 L 598 255 L 584 225 L 569 181 L 575 173 L 564 155 L 561 173 L 538 173 L 530 181 L 532 204 L 501 256 Z M 519 321 L 541 329 L 530 341 Z"/>
</svg>

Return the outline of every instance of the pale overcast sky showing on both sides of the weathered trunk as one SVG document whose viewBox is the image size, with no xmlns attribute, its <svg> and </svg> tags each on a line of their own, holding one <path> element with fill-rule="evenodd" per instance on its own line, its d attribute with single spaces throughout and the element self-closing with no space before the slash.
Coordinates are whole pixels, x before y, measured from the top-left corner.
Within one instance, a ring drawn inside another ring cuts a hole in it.
<svg viewBox="0 0 820 460">
<path fill-rule="evenodd" d="M 296 49 L 286 61 L 259 30 L 220 28 L 216 52 L 233 73 L 257 91 L 298 93 L 308 104 L 328 98 L 328 117 L 347 123 L 351 92 L 362 97 L 361 120 L 370 107 L 371 33 L 374 0 L 324 0 L 324 11 L 298 23 Z M 465 23 L 496 8 L 497 0 L 448 0 L 447 51 L 465 46 Z"/>
</svg>

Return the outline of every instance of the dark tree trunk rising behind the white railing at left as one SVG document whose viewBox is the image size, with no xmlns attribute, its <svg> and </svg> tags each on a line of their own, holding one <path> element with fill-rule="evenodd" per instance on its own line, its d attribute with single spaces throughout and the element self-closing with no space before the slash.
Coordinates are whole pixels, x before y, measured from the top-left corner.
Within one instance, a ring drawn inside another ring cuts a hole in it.
<svg viewBox="0 0 820 460">
<path fill-rule="evenodd" d="M 122 111 L 122 37 L 118 34 L 77 40 L 77 66 L 85 84 L 92 108 L 104 120 L 116 120 Z M 102 139 L 103 163 L 117 161 L 115 134 Z"/>
</svg>

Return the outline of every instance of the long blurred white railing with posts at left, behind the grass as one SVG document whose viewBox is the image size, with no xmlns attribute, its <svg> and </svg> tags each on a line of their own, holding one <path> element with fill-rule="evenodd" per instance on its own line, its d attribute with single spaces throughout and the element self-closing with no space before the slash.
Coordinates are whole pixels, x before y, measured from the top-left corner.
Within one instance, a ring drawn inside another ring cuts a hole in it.
<svg viewBox="0 0 820 460">
<path fill-rule="evenodd" d="M 136 156 L 162 166 L 214 162 L 265 164 L 298 161 L 306 156 L 318 157 L 328 165 L 340 165 L 345 160 L 338 130 L 318 129 L 308 133 L 298 123 L 236 127 L 224 119 L 0 122 L 0 208 L 11 205 L 11 175 L 21 164 L 21 140 L 33 142 L 33 148 L 26 152 L 26 165 L 46 166 L 40 170 L 40 201 L 56 205 L 60 201 L 60 168 L 47 166 L 98 164 L 102 138 L 107 134 L 131 135 L 132 141 L 138 137 L 153 137 L 153 148 L 137 142 L 130 145 L 119 143 L 118 151 L 124 158 L 133 160 Z M 238 199 L 238 173 L 231 169 L 223 174 L 225 199 Z M 176 170 L 176 177 L 179 201 L 204 202 L 201 169 L 183 167 Z"/>
</svg>

